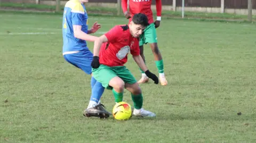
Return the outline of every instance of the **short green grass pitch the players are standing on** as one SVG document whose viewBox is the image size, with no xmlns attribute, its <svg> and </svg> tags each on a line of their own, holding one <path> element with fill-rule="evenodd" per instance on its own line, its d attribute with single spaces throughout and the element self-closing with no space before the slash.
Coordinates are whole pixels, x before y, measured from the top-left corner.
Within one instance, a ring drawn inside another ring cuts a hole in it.
<svg viewBox="0 0 256 143">
<path fill-rule="evenodd" d="M 163 19 L 157 34 L 169 85 L 141 85 L 144 107 L 157 117 L 121 122 L 82 115 L 90 76 L 63 59 L 61 18 L 0 13 L 0 142 L 256 142 L 255 24 Z M 94 21 L 102 24 L 97 36 L 127 23 Z M 126 65 L 139 80 L 131 56 Z M 124 100 L 132 104 L 127 91 Z M 111 91 L 102 103 L 112 110 Z"/>
</svg>

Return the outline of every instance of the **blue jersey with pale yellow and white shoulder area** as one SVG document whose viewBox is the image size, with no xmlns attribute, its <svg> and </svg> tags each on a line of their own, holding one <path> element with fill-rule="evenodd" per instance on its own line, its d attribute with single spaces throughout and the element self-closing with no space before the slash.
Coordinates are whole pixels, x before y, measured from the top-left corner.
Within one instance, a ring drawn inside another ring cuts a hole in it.
<svg viewBox="0 0 256 143">
<path fill-rule="evenodd" d="M 87 33 L 87 13 L 85 6 L 78 0 L 70 0 L 66 3 L 62 20 L 63 47 L 62 53 L 78 52 L 88 49 L 85 40 L 74 37 L 74 25 L 82 26 L 82 31 Z"/>
</svg>

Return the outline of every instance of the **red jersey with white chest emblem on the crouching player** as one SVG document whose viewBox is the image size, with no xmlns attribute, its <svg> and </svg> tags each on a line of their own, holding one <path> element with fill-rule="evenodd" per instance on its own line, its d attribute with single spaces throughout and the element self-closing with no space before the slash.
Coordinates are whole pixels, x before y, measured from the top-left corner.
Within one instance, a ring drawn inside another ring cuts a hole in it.
<svg viewBox="0 0 256 143">
<path fill-rule="evenodd" d="M 134 38 L 127 25 L 115 26 L 105 36 L 107 43 L 100 48 L 100 64 L 107 66 L 123 66 L 127 62 L 127 54 L 140 55 L 139 39 Z"/>
</svg>

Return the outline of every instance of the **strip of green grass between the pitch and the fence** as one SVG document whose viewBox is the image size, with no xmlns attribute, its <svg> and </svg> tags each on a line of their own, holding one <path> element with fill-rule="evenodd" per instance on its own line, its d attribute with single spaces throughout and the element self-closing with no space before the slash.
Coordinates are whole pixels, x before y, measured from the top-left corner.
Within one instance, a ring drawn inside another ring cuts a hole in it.
<svg viewBox="0 0 256 143">
<path fill-rule="evenodd" d="M 52 5 L 43 5 L 43 4 L 28 4 L 28 3 L 2 3 L 2 7 L 18 9 L 18 10 L 39 10 L 39 11 L 55 11 L 55 6 Z M 63 5 L 61 10 L 63 10 Z M 86 10 L 91 15 L 117 15 L 117 10 L 110 7 L 95 7 L 95 6 L 86 6 Z M 154 11 L 154 13 L 156 13 Z M 62 13 L 61 13 L 62 14 Z M 156 15 L 156 14 L 155 14 Z M 123 16 L 123 15 L 122 15 Z M 163 18 L 181 18 L 181 12 L 177 11 L 162 11 Z M 204 13 L 204 12 L 185 12 L 186 19 L 215 19 L 215 20 L 239 20 L 246 21 L 247 15 L 238 15 L 230 13 Z M 256 15 L 253 15 L 253 21 L 256 21 Z"/>
</svg>

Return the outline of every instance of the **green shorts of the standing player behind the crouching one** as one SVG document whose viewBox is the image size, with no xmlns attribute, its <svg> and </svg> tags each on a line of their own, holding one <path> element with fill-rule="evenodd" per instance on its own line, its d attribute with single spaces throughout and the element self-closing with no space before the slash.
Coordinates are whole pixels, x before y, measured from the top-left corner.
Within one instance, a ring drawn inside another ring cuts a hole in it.
<svg viewBox="0 0 256 143">
<path fill-rule="evenodd" d="M 157 43 L 155 24 L 151 23 L 140 35 L 140 46 L 147 43 Z"/>
</svg>

